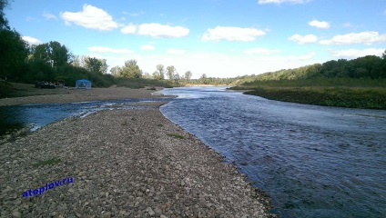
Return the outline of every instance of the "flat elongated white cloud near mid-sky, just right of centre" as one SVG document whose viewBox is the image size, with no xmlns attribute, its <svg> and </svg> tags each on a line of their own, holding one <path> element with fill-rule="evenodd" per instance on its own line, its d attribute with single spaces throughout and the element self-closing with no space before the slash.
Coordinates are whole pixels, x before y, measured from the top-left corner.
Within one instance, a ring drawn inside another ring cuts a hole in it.
<svg viewBox="0 0 386 218">
<path fill-rule="evenodd" d="M 202 36 L 202 40 L 218 42 L 224 39 L 231 42 L 251 42 L 261 35 L 266 35 L 266 33 L 256 28 L 216 26 L 214 29 L 208 29 L 207 33 Z"/>
</svg>

